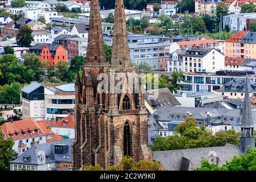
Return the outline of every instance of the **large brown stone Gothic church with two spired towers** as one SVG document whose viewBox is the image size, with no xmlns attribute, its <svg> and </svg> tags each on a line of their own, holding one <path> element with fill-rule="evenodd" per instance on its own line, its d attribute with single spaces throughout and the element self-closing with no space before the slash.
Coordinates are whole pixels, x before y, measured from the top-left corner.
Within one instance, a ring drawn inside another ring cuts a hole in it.
<svg viewBox="0 0 256 182">
<path fill-rule="evenodd" d="M 99 92 L 97 77 L 101 73 L 108 77 L 106 92 Z M 123 0 L 115 4 L 111 65 L 105 60 L 99 0 L 91 0 L 87 63 L 83 65 L 82 80 L 78 75 L 75 84 L 73 170 L 96 164 L 115 166 L 123 156 L 152 159 L 144 90 L 141 79 L 139 84 L 128 83 L 131 74 L 135 74 L 135 67 L 130 63 Z M 121 92 L 115 89 L 118 75 L 124 79 Z"/>
</svg>

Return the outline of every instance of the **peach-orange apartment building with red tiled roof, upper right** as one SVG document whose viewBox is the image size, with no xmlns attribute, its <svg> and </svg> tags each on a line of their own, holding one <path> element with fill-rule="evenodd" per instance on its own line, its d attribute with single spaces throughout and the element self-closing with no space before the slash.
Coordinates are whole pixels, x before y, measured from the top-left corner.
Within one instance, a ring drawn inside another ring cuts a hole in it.
<svg viewBox="0 0 256 182">
<path fill-rule="evenodd" d="M 225 41 L 225 57 L 245 58 L 245 47 L 240 41 L 246 34 L 247 31 L 239 31 Z"/>
</svg>

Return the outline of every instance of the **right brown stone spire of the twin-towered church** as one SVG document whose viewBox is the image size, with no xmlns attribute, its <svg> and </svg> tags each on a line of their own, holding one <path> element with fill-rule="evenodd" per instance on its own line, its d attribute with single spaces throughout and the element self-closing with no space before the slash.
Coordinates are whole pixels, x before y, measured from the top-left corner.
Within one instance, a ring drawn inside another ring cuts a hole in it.
<svg viewBox="0 0 256 182">
<path fill-rule="evenodd" d="M 111 68 L 128 68 L 130 66 L 124 2 L 116 0 Z"/>
</svg>

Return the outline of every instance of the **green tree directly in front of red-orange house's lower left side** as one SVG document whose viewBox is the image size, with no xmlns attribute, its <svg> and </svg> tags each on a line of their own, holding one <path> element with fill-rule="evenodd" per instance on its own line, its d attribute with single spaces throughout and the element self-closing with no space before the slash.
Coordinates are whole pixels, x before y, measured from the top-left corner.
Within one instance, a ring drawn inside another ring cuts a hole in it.
<svg viewBox="0 0 256 182">
<path fill-rule="evenodd" d="M 22 58 L 24 59 L 23 64 L 27 67 L 27 69 L 32 69 L 34 71 L 34 79 L 36 81 L 40 81 L 40 77 L 45 75 L 40 57 L 36 56 L 35 53 L 25 53 L 22 55 Z"/>
</svg>

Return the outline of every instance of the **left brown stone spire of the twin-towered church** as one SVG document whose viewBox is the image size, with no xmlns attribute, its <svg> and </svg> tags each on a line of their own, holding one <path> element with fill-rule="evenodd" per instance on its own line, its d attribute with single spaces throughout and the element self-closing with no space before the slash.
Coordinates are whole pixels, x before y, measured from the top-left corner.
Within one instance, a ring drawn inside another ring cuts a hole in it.
<svg viewBox="0 0 256 182">
<path fill-rule="evenodd" d="M 88 34 L 87 63 L 105 63 L 105 51 L 101 28 L 99 0 L 91 0 Z"/>
</svg>

